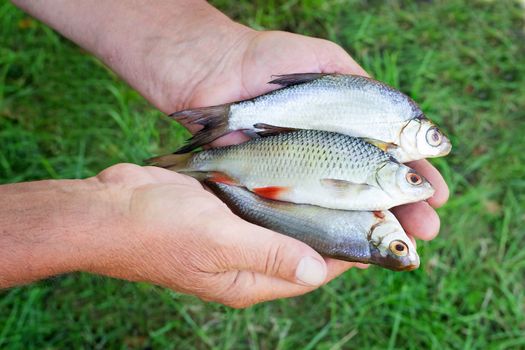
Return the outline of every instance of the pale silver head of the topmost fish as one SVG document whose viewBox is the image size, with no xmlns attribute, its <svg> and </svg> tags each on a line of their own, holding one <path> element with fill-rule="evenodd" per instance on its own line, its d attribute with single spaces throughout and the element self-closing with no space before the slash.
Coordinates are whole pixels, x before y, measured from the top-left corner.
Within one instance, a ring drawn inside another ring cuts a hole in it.
<svg viewBox="0 0 525 350">
<path fill-rule="evenodd" d="M 446 156 L 452 149 L 448 137 L 425 117 L 411 119 L 399 135 L 401 162 Z"/>
</svg>

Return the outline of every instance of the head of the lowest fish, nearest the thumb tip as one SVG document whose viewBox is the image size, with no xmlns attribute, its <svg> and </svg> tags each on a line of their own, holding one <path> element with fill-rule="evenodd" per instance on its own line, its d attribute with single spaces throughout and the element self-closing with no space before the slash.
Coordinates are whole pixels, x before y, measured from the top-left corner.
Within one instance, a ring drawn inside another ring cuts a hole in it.
<svg viewBox="0 0 525 350">
<path fill-rule="evenodd" d="M 374 225 L 369 234 L 370 262 L 394 271 L 411 271 L 419 267 L 419 255 L 410 238 L 390 212 Z"/>
</svg>

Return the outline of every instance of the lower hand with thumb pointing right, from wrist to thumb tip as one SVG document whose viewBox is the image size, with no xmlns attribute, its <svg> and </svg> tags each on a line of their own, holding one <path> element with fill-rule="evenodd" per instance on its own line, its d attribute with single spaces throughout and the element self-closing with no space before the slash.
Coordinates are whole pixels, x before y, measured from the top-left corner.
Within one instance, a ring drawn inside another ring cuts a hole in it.
<svg viewBox="0 0 525 350">
<path fill-rule="evenodd" d="M 95 235 L 87 270 L 246 307 L 309 292 L 340 274 L 312 248 L 234 215 L 202 185 L 119 164 L 96 181 L 113 203 L 111 236 Z M 116 209 L 115 209 L 116 208 Z"/>
</svg>

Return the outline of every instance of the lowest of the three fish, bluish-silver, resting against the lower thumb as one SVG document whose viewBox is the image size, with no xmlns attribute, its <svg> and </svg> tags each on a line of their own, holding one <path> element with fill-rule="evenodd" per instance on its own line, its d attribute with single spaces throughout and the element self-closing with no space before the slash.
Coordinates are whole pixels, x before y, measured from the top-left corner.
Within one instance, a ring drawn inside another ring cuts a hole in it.
<svg viewBox="0 0 525 350">
<path fill-rule="evenodd" d="M 206 185 L 242 219 L 302 241 L 319 254 L 394 271 L 419 267 L 412 241 L 389 211 L 346 211 L 262 198 L 238 186 Z"/>
</svg>

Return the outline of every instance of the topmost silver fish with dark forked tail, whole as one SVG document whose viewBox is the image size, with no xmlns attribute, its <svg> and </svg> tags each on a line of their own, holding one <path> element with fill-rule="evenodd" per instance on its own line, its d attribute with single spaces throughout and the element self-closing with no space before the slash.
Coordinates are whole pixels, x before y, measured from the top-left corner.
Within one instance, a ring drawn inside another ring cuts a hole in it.
<svg viewBox="0 0 525 350">
<path fill-rule="evenodd" d="M 176 153 L 189 152 L 235 130 L 272 135 L 296 129 L 366 138 L 399 162 L 447 155 L 452 145 L 407 95 L 359 75 L 299 73 L 269 82 L 281 86 L 258 97 L 170 115 L 200 125 Z"/>
</svg>

